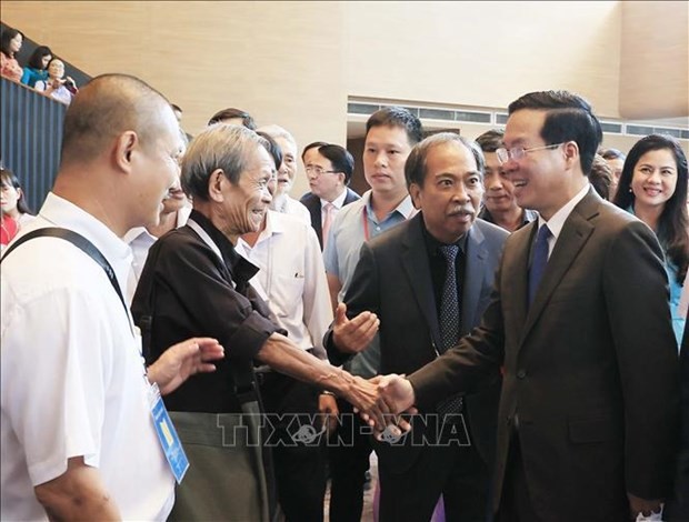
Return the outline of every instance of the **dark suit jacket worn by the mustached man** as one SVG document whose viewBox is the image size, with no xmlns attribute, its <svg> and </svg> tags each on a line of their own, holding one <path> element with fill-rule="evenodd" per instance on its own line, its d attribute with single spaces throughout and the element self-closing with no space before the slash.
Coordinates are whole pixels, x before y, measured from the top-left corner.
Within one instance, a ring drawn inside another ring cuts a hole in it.
<svg viewBox="0 0 689 522">
<path fill-rule="evenodd" d="M 411 373 L 436 359 L 442 345 L 433 283 L 422 231 L 422 214 L 365 243 L 344 297 L 349 317 L 369 310 L 380 318 L 380 373 Z M 508 233 L 477 219 L 467 237 L 460 333 L 476 327 L 490 301 L 493 278 Z M 331 343 L 329 343 L 331 344 Z M 332 353 L 332 345 L 330 353 Z M 487 464 L 492 463 L 499 373 L 492 387 L 467 398 L 469 430 Z M 377 445 L 381 465 L 397 472 L 409 468 L 420 444 Z"/>
</svg>

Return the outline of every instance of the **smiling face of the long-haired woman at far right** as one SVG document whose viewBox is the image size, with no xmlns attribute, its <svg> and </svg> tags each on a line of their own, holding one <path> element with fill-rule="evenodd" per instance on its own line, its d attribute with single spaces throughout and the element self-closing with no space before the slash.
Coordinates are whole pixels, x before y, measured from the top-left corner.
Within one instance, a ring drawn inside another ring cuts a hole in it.
<svg viewBox="0 0 689 522">
<path fill-rule="evenodd" d="M 633 167 L 635 208 L 662 209 L 677 189 L 677 161 L 669 149 L 649 150 Z"/>
</svg>

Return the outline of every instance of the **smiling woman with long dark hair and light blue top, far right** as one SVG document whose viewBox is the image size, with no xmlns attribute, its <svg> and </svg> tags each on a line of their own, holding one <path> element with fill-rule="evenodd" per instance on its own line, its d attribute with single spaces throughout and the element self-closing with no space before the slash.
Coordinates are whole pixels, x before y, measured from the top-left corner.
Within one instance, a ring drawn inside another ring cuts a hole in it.
<svg viewBox="0 0 689 522">
<path fill-rule="evenodd" d="M 658 237 L 666 255 L 672 325 L 679 344 L 686 318 L 677 307 L 689 265 L 687 157 L 679 142 L 662 134 L 640 139 L 625 160 L 613 202 Z"/>
</svg>

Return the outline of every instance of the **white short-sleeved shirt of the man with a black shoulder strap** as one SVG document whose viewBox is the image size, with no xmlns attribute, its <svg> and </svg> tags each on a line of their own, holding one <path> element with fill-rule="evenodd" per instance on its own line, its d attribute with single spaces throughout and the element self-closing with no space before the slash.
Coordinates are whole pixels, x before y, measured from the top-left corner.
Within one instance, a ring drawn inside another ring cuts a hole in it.
<svg viewBox="0 0 689 522">
<path fill-rule="evenodd" d="M 49 193 L 22 230 L 90 240 L 123 288 L 131 250 L 101 221 Z M 141 338 L 103 269 L 68 241 L 38 238 L 0 272 L 1 520 L 48 520 L 33 488 L 83 456 L 123 520 L 166 520 L 174 478 L 148 406 Z"/>
</svg>

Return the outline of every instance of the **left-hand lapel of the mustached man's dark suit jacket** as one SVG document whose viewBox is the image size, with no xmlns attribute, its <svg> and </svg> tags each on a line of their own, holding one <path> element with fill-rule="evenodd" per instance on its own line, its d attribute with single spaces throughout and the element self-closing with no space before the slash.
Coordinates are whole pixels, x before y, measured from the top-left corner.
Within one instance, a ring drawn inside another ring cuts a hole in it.
<svg viewBox="0 0 689 522">
<path fill-rule="evenodd" d="M 420 213 L 409 222 L 407 234 L 402 241 L 402 267 L 407 272 L 413 297 L 419 303 L 423 319 L 430 329 L 433 344 L 440 347 L 436 297 L 426 253 L 426 241 L 421 231 Z"/>
</svg>

